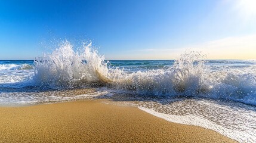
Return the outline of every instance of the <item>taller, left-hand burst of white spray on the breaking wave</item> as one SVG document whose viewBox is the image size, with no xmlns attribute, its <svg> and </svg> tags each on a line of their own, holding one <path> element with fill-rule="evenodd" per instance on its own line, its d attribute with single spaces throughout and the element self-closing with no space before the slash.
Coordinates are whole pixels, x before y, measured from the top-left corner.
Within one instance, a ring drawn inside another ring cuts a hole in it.
<svg viewBox="0 0 256 143">
<path fill-rule="evenodd" d="M 35 81 L 39 85 L 58 88 L 102 82 L 100 76 L 109 77 L 109 71 L 104 57 L 91 49 L 91 43 L 84 44 L 81 51 L 75 52 L 66 41 L 53 53 L 35 61 Z"/>
</svg>

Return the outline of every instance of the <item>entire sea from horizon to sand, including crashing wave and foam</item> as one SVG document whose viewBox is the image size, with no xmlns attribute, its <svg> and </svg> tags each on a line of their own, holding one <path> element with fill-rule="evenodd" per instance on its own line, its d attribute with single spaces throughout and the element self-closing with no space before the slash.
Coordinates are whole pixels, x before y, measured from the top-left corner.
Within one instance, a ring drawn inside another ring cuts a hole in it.
<svg viewBox="0 0 256 143">
<path fill-rule="evenodd" d="M 256 142 L 256 61 L 104 60 L 63 43 L 35 60 L 0 61 L 0 105 L 107 98 L 165 120 Z"/>
</svg>

